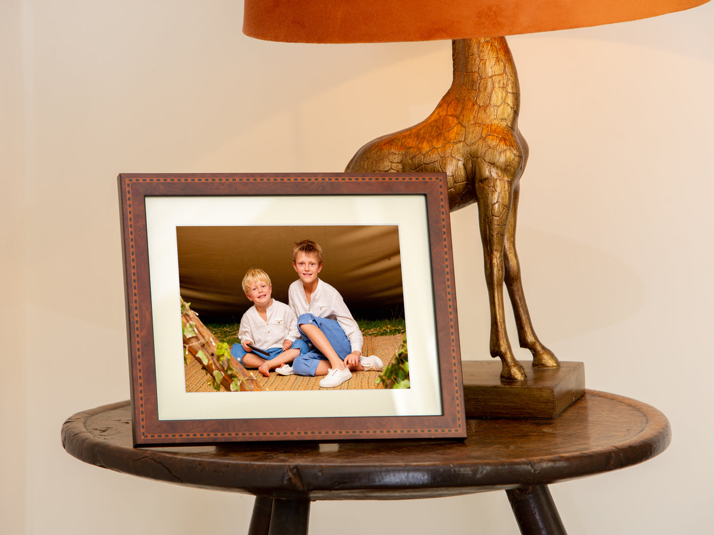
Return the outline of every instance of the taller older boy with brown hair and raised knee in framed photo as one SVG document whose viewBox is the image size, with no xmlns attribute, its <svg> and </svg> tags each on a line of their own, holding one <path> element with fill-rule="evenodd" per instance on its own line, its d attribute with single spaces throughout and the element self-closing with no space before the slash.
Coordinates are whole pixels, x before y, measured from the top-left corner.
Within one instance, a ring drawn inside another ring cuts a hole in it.
<svg viewBox="0 0 714 535">
<path fill-rule="evenodd" d="M 298 331 L 313 348 L 293 361 L 298 375 L 326 375 L 324 388 L 337 387 L 352 377 L 352 371 L 382 370 L 376 356 L 362 356 L 362 333 L 340 293 L 318 278 L 322 248 L 303 240 L 293 248 L 293 269 L 298 280 L 288 289 L 288 303 L 298 317 Z M 286 367 L 278 370 L 289 373 Z"/>
</svg>

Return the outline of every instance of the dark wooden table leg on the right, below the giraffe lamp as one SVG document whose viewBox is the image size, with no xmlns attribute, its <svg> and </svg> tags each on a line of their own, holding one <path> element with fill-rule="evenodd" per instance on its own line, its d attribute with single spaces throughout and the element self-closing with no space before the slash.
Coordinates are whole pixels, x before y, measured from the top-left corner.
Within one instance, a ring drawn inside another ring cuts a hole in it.
<svg viewBox="0 0 714 535">
<path fill-rule="evenodd" d="M 568 535 L 548 485 L 509 489 L 506 494 L 523 535 Z"/>
</svg>

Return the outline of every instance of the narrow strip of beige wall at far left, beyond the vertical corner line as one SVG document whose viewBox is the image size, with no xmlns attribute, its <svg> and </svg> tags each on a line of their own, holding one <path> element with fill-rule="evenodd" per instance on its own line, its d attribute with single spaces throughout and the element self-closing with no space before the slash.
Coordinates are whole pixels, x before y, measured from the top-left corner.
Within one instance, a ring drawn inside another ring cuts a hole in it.
<svg viewBox="0 0 714 535">
<path fill-rule="evenodd" d="M 0 532 L 25 531 L 27 380 L 25 302 L 24 98 L 21 2 L 0 2 L 0 325 L 21 340 L 0 361 L 8 384 L 0 389 Z M 11 345 L 15 345 L 12 343 Z"/>
</svg>

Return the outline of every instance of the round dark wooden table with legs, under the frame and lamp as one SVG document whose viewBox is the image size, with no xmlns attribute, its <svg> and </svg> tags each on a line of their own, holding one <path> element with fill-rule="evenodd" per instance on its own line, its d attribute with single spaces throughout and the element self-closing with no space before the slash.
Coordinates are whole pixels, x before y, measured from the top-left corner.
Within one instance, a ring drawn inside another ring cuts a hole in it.
<svg viewBox="0 0 714 535">
<path fill-rule="evenodd" d="M 588 390 L 557 419 L 469 419 L 466 441 L 273 442 L 132 447 L 129 402 L 62 426 L 89 464 L 256 496 L 249 534 L 306 534 L 310 501 L 411 499 L 506 490 L 524 534 L 565 534 L 548 484 L 628 467 L 663 452 L 664 414 Z"/>
</svg>

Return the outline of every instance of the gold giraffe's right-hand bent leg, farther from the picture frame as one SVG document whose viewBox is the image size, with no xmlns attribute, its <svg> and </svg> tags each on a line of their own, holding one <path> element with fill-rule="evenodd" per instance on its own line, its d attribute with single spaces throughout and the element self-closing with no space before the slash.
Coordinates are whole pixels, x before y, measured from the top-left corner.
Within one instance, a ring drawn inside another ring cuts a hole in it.
<svg viewBox="0 0 714 535">
<path fill-rule="evenodd" d="M 518 199 L 520 197 L 521 185 L 519 184 L 513 189 L 513 208 L 511 208 L 511 217 L 508 218 L 506 243 L 503 248 L 506 256 L 506 288 L 508 289 L 508 295 L 511 297 L 513 315 L 516 317 L 518 342 L 520 342 L 521 347 L 530 350 L 533 354 L 533 367 L 557 368 L 560 367 L 560 362 L 548 347 L 540 343 L 538 336 L 535 335 L 531 315 L 528 314 L 526 297 L 523 295 L 521 264 L 518 262 L 518 253 L 516 253 L 516 220 L 518 218 Z"/>
</svg>

